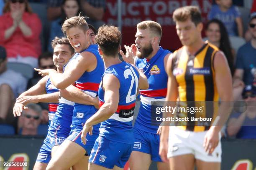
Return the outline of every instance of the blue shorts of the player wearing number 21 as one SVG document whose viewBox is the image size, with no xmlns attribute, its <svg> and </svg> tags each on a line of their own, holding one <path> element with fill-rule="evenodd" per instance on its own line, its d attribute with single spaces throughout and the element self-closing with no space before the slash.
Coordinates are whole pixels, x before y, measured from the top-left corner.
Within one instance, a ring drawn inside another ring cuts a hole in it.
<svg viewBox="0 0 256 170">
<path fill-rule="evenodd" d="M 115 165 L 123 168 L 131 155 L 132 149 L 133 144 L 115 142 L 99 136 L 92 149 L 89 163 L 109 169 L 113 169 Z"/>
</svg>

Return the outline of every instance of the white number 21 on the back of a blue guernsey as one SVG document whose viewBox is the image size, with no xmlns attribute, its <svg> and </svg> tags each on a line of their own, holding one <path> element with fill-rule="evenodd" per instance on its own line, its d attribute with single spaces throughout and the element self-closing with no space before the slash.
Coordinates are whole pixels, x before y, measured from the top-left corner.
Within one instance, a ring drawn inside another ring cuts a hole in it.
<svg viewBox="0 0 256 170">
<path fill-rule="evenodd" d="M 126 96 L 126 103 L 133 102 L 136 99 L 136 95 L 137 95 L 138 77 L 136 76 L 136 73 L 134 72 L 133 67 L 129 67 L 128 69 L 126 69 L 123 72 L 123 75 L 124 75 L 125 79 L 128 78 L 129 75 L 131 75 L 131 78 L 132 78 L 131 86 L 130 86 L 128 94 Z M 135 85 L 136 85 L 136 92 L 134 95 L 131 95 L 131 90 L 133 88 L 134 80 L 135 80 Z"/>
</svg>

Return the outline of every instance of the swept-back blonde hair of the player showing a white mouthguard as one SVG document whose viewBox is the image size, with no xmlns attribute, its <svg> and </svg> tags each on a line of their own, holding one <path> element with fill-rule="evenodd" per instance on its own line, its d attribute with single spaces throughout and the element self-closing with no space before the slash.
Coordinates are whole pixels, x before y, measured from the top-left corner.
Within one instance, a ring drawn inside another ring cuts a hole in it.
<svg viewBox="0 0 256 170">
<path fill-rule="evenodd" d="M 87 22 L 85 21 L 84 18 L 86 18 L 86 17 L 75 16 L 75 17 L 65 20 L 61 27 L 61 30 L 63 31 L 64 35 L 67 35 L 67 30 L 69 30 L 72 27 L 79 27 L 84 31 L 89 30 Z"/>
</svg>

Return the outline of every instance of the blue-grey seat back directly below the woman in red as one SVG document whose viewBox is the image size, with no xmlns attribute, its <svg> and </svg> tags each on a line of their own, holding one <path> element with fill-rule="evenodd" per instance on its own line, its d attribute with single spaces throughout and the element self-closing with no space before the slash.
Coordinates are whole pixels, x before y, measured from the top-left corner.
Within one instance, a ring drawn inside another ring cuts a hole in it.
<svg viewBox="0 0 256 170">
<path fill-rule="evenodd" d="M 8 69 L 20 72 L 24 77 L 30 79 L 33 77 L 33 67 L 31 65 L 20 63 L 20 62 L 8 62 Z"/>
</svg>

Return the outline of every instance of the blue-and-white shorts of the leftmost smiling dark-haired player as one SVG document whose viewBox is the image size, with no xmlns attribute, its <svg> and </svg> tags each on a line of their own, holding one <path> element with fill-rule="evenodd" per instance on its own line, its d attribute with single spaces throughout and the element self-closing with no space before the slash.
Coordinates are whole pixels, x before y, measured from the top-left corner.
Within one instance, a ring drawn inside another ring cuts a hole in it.
<svg viewBox="0 0 256 170">
<path fill-rule="evenodd" d="M 55 145 L 61 145 L 69 136 L 70 127 L 63 127 L 59 123 L 50 122 L 48 134 L 37 155 L 36 162 L 49 163 L 51 160 L 51 148 Z"/>
</svg>

